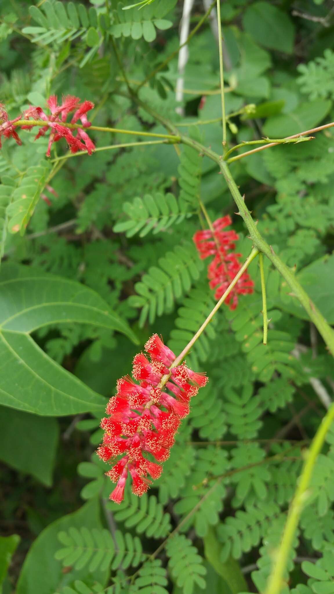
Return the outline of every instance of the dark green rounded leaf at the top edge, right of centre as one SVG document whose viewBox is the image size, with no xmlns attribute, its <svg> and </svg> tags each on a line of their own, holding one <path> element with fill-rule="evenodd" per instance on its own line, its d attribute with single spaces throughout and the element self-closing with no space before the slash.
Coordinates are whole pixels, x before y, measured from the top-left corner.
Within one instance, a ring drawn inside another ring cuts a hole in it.
<svg viewBox="0 0 334 594">
<path fill-rule="evenodd" d="M 269 2 L 255 2 L 244 12 L 244 30 L 265 48 L 292 53 L 295 28 L 285 12 Z"/>
</svg>

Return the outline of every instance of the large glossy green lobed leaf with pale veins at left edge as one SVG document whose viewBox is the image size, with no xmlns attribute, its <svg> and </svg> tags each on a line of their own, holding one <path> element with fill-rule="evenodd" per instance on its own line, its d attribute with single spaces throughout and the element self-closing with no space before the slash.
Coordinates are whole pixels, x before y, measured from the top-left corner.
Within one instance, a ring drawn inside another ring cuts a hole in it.
<svg viewBox="0 0 334 594">
<path fill-rule="evenodd" d="M 105 399 L 52 361 L 30 333 L 67 321 L 118 330 L 136 341 L 127 324 L 97 293 L 71 280 L 33 277 L 12 266 L 4 266 L 1 278 L 0 355 L 7 371 L 1 374 L 1 403 L 51 416 L 102 410 Z"/>
</svg>

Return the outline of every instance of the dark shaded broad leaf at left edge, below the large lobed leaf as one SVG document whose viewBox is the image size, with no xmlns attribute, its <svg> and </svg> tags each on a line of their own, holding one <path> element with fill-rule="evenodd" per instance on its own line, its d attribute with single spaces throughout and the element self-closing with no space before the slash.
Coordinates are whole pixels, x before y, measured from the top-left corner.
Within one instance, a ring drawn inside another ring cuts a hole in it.
<svg viewBox="0 0 334 594">
<path fill-rule="evenodd" d="M 52 485 L 58 434 L 56 419 L 0 407 L 0 460 L 46 486 Z"/>
</svg>

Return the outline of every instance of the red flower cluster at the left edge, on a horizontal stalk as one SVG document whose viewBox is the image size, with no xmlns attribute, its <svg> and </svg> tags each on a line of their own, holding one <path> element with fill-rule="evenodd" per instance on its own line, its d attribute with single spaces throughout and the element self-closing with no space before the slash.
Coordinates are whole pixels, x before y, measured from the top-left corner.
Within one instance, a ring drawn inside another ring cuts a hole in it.
<svg viewBox="0 0 334 594">
<path fill-rule="evenodd" d="M 40 129 L 35 137 L 35 140 L 41 136 L 44 136 L 49 129 L 51 131 L 49 136 L 48 150 L 46 151 L 47 157 L 50 156 L 52 144 L 58 142 L 58 140 L 61 140 L 61 138 L 65 138 L 67 141 L 71 153 L 77 153 L 78 151 L 86 150 L 88 154 L 92 154 L 93 150 L 95 149 L 95 145 L 83 128 L 89 128 L 91 125 L 87 120 L 87 112 L 89 112 L 90 109 L 93 109 L 94 103 L 91 101 L 84 101 L 83 103 L 80 103 L 80 99 L 78 99 L 78 97 L 73 97 L 71 95 L 63 97 L 61 105 L 58 105 L 56 95 L 49 97 L 47 103 L 51 111 L 51 115 L 46 115 L 46 113 L 40 107 L 35 108 L 31 106 L 29 109 L 26 109 L 23 112 L 23 115 L 20 115 L 18 118 L 12 120 L 8 119 L 8 113 L 6 112 L 4 105 L 0 103 L 0 149 L 1 135 L 3 135 L 5 138 L 12 137 L 17 142 L 17 144 L 21 145 L 22 143 L 15 130 L 14 124 L 20 119 L 31 118 L 35 121 L 42 120 L 45 122 L 45 125 L 37 123 L 34 124 L 31 122 L 31 125 L 21 126 L 23 129 L 30 130 L 34 126 L 38 125 Z M 71 124 L 76 124 L 78 120 L 80 120 L 82 128 L 80 127 L 77 129 L 70 129 L 68 125 L 64 125 L 69 113 L 71 112 L 74 112 L 74 115 L 71 119 Z M 73 132 L 76 132 L 75 136 Z"/>
</svg>

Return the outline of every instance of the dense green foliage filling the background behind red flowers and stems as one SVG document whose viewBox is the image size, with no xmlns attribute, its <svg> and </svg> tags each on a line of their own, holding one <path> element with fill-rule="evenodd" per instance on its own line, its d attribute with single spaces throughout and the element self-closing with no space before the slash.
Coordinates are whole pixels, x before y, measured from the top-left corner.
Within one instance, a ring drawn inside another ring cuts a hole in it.
<svg viewBox="0 0 334 594">
<path fill-rule="evenodd" d="M 193 3 L 190 30 L 208 6 Z M 223 306 L 188 358 L 210 382 L 149 494 L 108 502 L 108 467 L 94 454 L 106 398 L 134 354 L 153 332 L 178 354 L 215 303 L 192 242 L 206 226 L 201 203 L 212 220 L 232 216 L 243 258 L 251 249 L 207 157 L 162 143 L 114 147 L 145 140 L 143 131 L 166 134 L 157 112 L 222 153 L 215 8 L 188 45 L 179 102 L 182 0 L 122 8 L 1 4 L 0 101 L 11 118 L 45 107 L 50 94 L 74 94 L 95 103 L 94 125 L 134 133 L 92 131 L 93 156 L 59 143 L 47 160 L 47 139 L 21 131 L 23 146 L 6 140 L 0 152 L 0 589 L 262 591 L 301 447 L 334 388 L 330 355 L 268 261 L 268 345 L 252 263 L 254 294 L 235 311 Z M 221 13 L 229 148 L 334 119 L 332 0 L 226 0 Z M 237 159 L 231 171 L 266 241 L 334 323 L 333 132 L 315 136 Z M 86 309 L 70 309 L 80 299 Z M 286 592 L 334 592 L 333 444 L 331 433 Z"/>
</svg>

